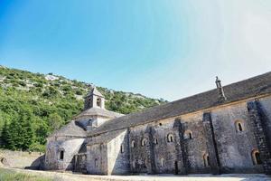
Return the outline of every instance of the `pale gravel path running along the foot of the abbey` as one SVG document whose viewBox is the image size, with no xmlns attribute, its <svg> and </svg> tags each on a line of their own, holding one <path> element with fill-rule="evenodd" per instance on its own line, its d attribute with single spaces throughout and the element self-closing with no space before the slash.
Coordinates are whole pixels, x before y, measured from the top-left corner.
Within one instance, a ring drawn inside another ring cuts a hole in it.
<svg viewBox="0 0 271 181">
<path fill-rule="evenodd" d="M 190 176 L 174 176 L 174 175 L 155 175 L 155 176 L 92 176 L 92 175 L 78 175 L 71 173 L 60 173 L 50 171 L 35 171 L 17 168 L 13 169 L 16 172 L 26 173 L 36 176 L 50 176 L 56 181 L 271 181 L 270 176 L 266 175 L 190 175 Z"/>
</svg>

